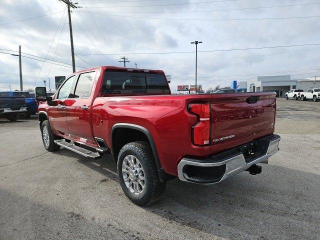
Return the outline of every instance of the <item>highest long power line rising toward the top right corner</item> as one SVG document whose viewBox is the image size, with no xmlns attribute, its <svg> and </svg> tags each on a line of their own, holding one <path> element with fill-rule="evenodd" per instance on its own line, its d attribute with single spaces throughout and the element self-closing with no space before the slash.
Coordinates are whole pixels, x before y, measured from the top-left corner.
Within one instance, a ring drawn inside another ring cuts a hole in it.
<svg viewBox="0 0 320 240">
<path fill-rule="evenodd" d="M 259 7 L 245 7 L 245 8 L 232 8 L 232 9 L 215 9 L 215 10 L 198 10 L 198 11 L 148 11 L 148 12 L 139 12 L 139 11 L 124 11 L 124 12 L 114 12 L 114 11 L 91 11 L 91 13 L 188 13 L 188 12 L 214 12 L 214 11 L 235 11 L 235 10 L 253 10 L 253 9 L 263 9 L 263 8 L 275 8 L 275 7 L 288 7 L 288 6 L 302 6 L 302 5 L 314 5 L 320 4 L 320 2 L 312 2 L 312 3 L 301 3 L 301 4 L 290 4 L 290 5 L 276 5 L 276 6 L 259 6 Z"/>
</svg>

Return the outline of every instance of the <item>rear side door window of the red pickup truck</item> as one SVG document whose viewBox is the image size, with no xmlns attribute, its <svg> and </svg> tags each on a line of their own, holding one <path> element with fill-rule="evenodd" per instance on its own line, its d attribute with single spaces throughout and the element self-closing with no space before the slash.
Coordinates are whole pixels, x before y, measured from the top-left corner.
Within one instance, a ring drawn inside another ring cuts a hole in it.
<svg viewBox="0 0 320 240">
<path fill-rule="evenodd" d="M 73 97 L 89 97 L 91 94 L 91 87 L 94 76 L 95 71 L 80 74 L 75 86 Z"/>
</svg>

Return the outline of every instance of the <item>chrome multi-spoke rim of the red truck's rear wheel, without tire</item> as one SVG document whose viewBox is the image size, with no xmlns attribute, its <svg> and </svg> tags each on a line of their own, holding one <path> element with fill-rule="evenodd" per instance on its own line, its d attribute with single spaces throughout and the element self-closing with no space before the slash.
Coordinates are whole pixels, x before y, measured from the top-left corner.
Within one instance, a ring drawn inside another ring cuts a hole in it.
<svg viewBox="0 0 320 240">
<path fill-rule="evenodd" d="M 133 155 L 127 155 L 122 162 L 122 177 L 126 187 L 134 195 L 143 193 L 145 179 L 144 170 L 139 160 Z"/>
</svg>

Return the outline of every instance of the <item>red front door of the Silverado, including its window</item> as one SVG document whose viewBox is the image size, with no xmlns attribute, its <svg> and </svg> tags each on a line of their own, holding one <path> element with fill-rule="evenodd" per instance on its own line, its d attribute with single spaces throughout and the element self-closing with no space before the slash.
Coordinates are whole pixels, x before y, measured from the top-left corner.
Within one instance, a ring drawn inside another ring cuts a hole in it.
<svg viewBox="0 0 320 240">
<path fill-rule="evenodd" d="M 54 133 L 67 135 L 69 133 L 66 122 L 66 103 L 71 95 L 75 76 L 66 79 L 54 99 L 54 106 L 48 108 L 48 117 L 51 129 Z"/>
</svg>

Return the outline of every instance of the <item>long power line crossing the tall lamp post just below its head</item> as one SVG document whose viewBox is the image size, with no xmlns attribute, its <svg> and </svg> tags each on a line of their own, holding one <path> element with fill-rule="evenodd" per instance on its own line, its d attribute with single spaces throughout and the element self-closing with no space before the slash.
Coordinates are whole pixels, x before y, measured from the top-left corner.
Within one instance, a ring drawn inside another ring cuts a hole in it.
<svg viewBox="0 0 320 240">
<path fill-rule="evenodd" d="M 198 52 L 216 52 L 216 51 L 238 51 L 238 50 L 253 50 L 279 47 L 293 47 L 293 46 L 310 46 L 320 45 L 320 43 L 296 44 L 296 45 L 281 45 L 281 46 L 262 46 L 262 47 L 247 47 L 247 48 L 231 48 L 231 49 L 217 49 L 217 50 L 202 50 Z M 120 53 L 121 55 L 150 55 L 150 54 L 178 54 L 178 53 L 193 53 L 195 51 L 171 51 L 171 52 L 135 52 L 135 53 Z M 115 55 L 114 53 L 77 53 L 78 55 Z"/>
</svg>

